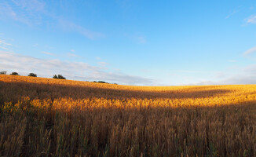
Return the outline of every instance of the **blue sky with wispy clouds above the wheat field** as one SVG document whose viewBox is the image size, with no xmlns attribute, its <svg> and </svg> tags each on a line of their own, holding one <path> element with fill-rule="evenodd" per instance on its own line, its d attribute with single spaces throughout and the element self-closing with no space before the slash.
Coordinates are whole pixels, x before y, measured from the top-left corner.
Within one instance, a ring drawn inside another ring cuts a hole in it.
<svg viewBox="0 0 256 157">
<path fill-rule="evenodd" d="M 0 1 L 0 71 L 138 86 L 256 83 L 255 1 Z"/>
</svg>

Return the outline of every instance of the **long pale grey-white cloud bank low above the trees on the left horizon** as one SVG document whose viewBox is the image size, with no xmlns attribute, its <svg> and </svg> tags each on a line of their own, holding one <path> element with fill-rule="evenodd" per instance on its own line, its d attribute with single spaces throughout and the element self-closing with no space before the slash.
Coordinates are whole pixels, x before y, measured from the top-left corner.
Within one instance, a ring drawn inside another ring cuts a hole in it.
<svg viewBox="0 0 256 157">
<path fill-rule="evenodd" d="M 139 76 L 126 75 L 122 72 L 107 72 L 104 68 L 91 66 L 83 62 L 46 60 L 24 56 L 17 53 L 0 51 L 0 67 L 6 71 L 16 71 L 21 75 L 35 72 L 41 77 L 64 75 L 67 79 L 116 82 L 125 85 L 153 85 L 154 80 Z"/>
</svg>

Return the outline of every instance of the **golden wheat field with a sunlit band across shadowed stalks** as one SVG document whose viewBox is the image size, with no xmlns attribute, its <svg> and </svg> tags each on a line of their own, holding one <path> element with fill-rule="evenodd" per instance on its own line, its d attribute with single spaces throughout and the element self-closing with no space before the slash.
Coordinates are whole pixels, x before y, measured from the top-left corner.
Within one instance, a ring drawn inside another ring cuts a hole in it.
<svg viewBox="0 0 256 157">
<path fill-rule="evenodd" d="M 256 85 L 0 75 L 0 156 L 256 156 Z"/>
</svg>

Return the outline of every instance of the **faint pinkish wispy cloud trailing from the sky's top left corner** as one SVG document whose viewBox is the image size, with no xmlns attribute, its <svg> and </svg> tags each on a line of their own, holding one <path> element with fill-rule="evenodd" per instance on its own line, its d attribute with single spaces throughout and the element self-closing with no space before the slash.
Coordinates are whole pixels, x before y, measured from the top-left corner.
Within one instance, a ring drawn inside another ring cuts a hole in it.
<svg viewBox="0 0 256 157">
<path fill-rule="evenodd" d="M 57 27 L 63 28 L 64 31 L 74 31 L 86 38 L 98 39 L 105 36 L 100 32 L 91 31 L 70 20 L 64 20 L 54 13 L 49 13 L 46 8 L 46 2 L 39 0 L 4 1 L 0 2 L 0 19 L 16 20 L 28 26 L 40 25 L 47 21 L 47 24 L 57 24 Z"/>
</svg>

